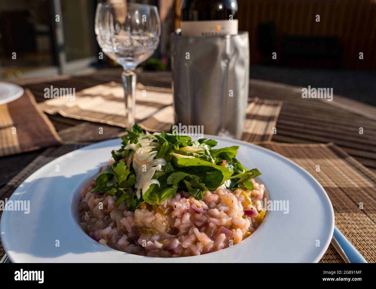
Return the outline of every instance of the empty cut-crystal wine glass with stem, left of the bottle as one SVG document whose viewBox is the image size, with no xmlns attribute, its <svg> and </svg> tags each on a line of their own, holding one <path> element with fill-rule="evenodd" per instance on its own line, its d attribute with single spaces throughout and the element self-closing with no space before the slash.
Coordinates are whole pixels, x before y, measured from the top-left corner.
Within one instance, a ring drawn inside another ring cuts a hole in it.
<svg viewBox="0 0 376 289">
<path fill-rule="evenodd" d="M 130 3 L 99 3 L 95 32 L 102 51 L 123 66 L 126 127 L 135 123 L 136 73 L 134 70 L 155 51 L 161 35 L 156 6 Z"/>
</svg>

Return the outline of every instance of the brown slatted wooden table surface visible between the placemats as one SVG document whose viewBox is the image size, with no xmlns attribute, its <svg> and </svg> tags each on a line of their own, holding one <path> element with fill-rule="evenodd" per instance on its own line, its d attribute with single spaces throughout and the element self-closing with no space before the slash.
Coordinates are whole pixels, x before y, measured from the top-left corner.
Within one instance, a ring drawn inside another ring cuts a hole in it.
<svg viewBox="0 0 376 289">
<path fill-rule="evenodd" d="M 104 70 L 83 76 L 56 76 L 13 81 L 29 88 L 37 102 L 44 98 L 44 88 L 74 87 L 76 92 L 109 81 L 121 82 L 121 71 Z M 138 82 L 144 85 L 171 87 L 170 72 L 143 72 Z M 288 143 L 334 142 L 355 157 L 371 171 L 376 172 L 376 108 L 334 96 L 333 102 L 318 99 L 303 99 L 299 87 L 275 82 L 250 80 L 250 97 L 283 101 L 272 141 Z M 355 113 L 356 112 L 356 113 Z M 88 121 L 48 115 L 56 131 L 65 143 L 97 142 L 114 138 L 124 129 L 101 124 L 103 135 L 98 134 L 98 125 Z M 362 127 L 364 134 L 359 134 Z M 0 188 L 44 150 L 0 158 Z"/>
</svg>

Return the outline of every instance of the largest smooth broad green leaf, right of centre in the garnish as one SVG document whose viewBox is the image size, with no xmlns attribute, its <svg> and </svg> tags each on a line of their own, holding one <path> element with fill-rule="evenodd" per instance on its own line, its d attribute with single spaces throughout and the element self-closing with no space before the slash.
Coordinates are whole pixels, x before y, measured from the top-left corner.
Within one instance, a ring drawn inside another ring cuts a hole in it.
<svg viewBox="0 0 376 289">
<path fill-rule="evenodd" d="M 171 163 L 176 168 L 176 171 L 199 177 L 202 183 L 211 191 L 216 190 L 233 174 L 229 168 L 217 166 L 201 159 L 173 157 Z"/>
</svg>

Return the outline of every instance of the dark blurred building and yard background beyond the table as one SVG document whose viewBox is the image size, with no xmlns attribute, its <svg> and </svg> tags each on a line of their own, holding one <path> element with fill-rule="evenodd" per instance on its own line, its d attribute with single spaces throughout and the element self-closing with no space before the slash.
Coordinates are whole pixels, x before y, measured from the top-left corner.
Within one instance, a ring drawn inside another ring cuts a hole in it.
<svg viewBox="0 0 376 289">
<path fill-rule="evenodd" d="M 99 2 L 1 0 L 1 78 L 118 69 L 104 54 L 99 57 L 94 33 Z M 169 37 L 180 27 L 181 0 L 128 2 L 156 5 L 162 22 L 158 49 L 138 69 L 169 71 Z M 238 7 L 239 30 L 250 35 L 251 78 L 330 87 L 376 106 L 376 0 L 238 0 Z"/>
</svg>

